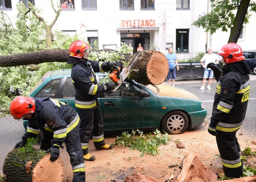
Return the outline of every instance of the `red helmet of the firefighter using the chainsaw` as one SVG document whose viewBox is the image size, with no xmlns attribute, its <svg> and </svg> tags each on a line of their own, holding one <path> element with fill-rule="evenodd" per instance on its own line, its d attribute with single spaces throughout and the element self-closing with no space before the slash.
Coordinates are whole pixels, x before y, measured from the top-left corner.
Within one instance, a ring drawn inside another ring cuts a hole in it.
<svg viewBox="0 0 256 182">
<path fill-rule="evenodd" d="M 69 48 L 70 56 L 81 58 L 83 57 L 83 51 L 86 49 L 90 49 L 88 44 L 83 41 L 74 41 Z"/>
</svg>

